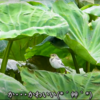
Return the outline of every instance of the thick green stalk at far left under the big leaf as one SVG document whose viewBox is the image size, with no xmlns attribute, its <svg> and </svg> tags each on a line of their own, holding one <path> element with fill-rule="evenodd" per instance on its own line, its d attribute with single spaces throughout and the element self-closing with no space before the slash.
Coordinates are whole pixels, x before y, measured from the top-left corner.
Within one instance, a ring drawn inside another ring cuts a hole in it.
<svg viewBox="0 0 100 100">
<path fill-rule="evenodd" d="M 12 43 L 13 43 L 13 41 L 9 40 L 8 45 L 7 45 L 7 47 L 6 47 L 5 51 L 4 51 L 2 64 L 1 64 L 1 73 L 5 73 L 5 71 L 6 71 L 6 66 L 7 66 L 7 62 L 8 62 L 10 49 L 12 47 Z"/>
</svg>

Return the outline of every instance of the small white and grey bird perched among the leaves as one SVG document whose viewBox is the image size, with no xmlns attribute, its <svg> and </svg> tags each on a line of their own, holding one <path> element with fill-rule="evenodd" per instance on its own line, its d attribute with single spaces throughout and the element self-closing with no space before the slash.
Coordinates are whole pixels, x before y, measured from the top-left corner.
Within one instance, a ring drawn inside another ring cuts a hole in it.
<svg viewBox="0 0 100 100">
<path fill-rule="evenodd" d="M 61 59 L 57 56 L 57 54 L 51 54 L 50 58 L 49 58 L 49 62 L 51 64 L 51 66 L 53 68 L 55 68 L 55 69 L 65 68 L 65 71 L 67 71 L 69 73 L 73 73 L 74 72 L 73 69 L 64 66 L 64 64 L 62 63 Z"/>
</svg>

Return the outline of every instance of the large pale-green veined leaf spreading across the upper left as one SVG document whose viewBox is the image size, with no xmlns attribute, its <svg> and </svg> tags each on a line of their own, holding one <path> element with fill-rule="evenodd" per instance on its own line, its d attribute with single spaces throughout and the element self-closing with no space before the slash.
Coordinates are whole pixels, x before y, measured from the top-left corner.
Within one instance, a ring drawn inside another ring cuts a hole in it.
<svg viewBox="0 0 100 100">
<path fill-rule="evenodd" d="M 16 40 L 36 33 L 63 38 L 67 31 L 67 22 L 56 13 L 26 2 L 0 4 L 0 40 Z"/>
</svg>

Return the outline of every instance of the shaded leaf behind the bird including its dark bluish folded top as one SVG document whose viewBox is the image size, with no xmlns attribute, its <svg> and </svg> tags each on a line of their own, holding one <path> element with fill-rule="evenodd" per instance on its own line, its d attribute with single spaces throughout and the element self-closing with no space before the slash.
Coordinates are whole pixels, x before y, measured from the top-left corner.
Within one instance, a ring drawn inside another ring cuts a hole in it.
<svg viewBox="0 0 100 100">
<path fill-rule="evenodd" d="M 60 57 L 67 55 L 69 48 L 63 40 L 60 40 L 53 36 L 46 37 L 41 43 L 29 47 L 26 50 L 26 59 L 31 58 L 34 55 L 50 56 L 52 53 L 57 53 Z"/>
</svg>

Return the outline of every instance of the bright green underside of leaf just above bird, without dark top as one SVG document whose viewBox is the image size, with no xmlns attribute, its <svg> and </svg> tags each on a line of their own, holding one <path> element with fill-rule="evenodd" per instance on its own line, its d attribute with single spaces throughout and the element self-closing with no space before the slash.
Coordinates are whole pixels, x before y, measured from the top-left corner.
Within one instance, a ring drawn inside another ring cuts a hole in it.
<svg viewBox="0 0 100 100">
<path fill-rule="evenodd" d="M 40 46 L 33 46 L 26 50 L 25 58 L 31 58 L 34 55 L 47 56 L 50 57 L 50 54 L 56 53 L 59 57 L 63 58 L 67 55 L 67 49 L 59 49 L 53 46 L 50 42 L 46 42 Z"/>
</svg>

